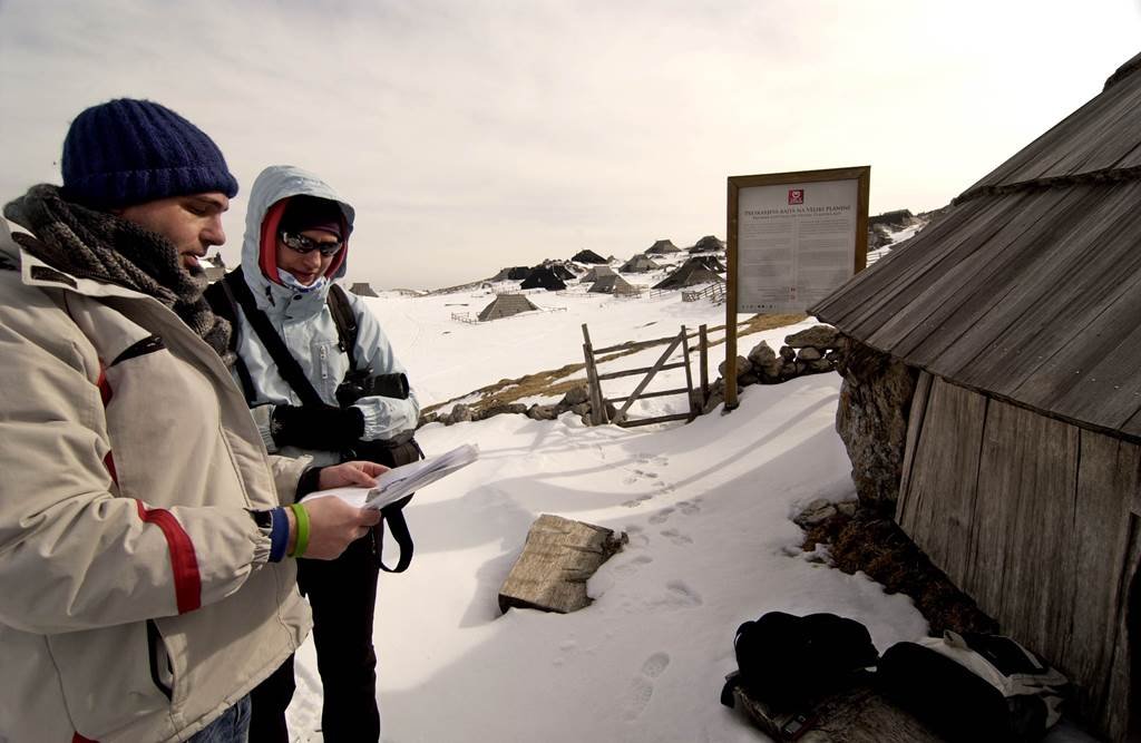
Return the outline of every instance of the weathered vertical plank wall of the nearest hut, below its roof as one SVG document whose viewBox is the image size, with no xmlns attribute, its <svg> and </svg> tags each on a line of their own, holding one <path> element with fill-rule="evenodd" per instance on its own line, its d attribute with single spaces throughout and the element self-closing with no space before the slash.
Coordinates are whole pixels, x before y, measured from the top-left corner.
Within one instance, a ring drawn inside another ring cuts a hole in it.
<svg viewBox="0 0 1141 743">
<path fill-rule="evenodd" d="M 921 375 L 897 520 L 1124 740 L 1141 446 Z"/>
</svg>

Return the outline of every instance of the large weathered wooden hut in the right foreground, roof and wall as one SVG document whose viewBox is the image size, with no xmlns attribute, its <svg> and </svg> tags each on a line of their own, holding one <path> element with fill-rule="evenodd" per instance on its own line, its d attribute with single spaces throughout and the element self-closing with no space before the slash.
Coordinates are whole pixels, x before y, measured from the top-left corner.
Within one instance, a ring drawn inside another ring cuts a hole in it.
<svg viewBox="0 0 1141 743">
<path fill-rule="evenodd" d="M 915 379 L 901 528 L 1115 741 L 1141 704 L 1139 204 L 1141 55 L 810 309 Z"/>
</svg>

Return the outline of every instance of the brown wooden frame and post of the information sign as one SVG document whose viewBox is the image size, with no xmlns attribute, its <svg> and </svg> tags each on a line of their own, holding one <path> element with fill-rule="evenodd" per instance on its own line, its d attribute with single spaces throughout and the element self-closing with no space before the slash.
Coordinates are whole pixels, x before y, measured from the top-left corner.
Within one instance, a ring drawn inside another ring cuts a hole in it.
<svg viewBox="0 0 1141 743">
<path fill-rule="evenodd" d="M 759 186 L 787 186 L 788 202 L 793 202 L 793 192 L 804 184 L 826 181 L 855 180 L 856 184 L 856 220 L 855 220 L 855 256 L 852 275 L 867 266 L 867 211 L 871 194 L 872 167 L 831 168 L 826 170 L 802 170 L 777 172 L 758 176 L 729 176 L 727 197 L 728 242 L 728 278 L 725 320 L 725 411 L 737 407 L 737 304 L 741 296 L 738 273 L 741 270 L 739 235 L 741 227 L 741 192 Z"/>
</svg>

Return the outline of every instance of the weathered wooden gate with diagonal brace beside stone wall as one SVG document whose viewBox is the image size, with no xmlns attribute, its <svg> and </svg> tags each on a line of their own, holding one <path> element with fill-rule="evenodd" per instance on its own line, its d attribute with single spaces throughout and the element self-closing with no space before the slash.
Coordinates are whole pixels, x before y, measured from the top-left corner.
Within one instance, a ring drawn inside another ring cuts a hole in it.
<svg viewBox="0 0 1141 743">
<path fill-rule="evenodd" d="M 596 357 L 598 354 L 605 354 L 615 350 L 623 350 L 628 346 L 610 346 L 608 348 L 594 349 L 590 342 L 590 331 L 586 325 L 582 326 L 583 337 L 583 356 L 586 360 L 586 383 L 590 389 L 590 409 L 591 409 L 591 422 L 594 426 L 600 423 L 614 423 L 616 426 L 622 426 L 623 428 L 632 428 L 634 426 L 648 426 L 650 423 L 662 423 L 671 420 L 683 420 L 691 421 L 701 413 L 701 406 L 704 405 L 704 397 L 709 391 L 709 381 L 706 374 L 706 341 L 705 341 L 705 325 L 701 328 L 701 373 L 702 373 L 702 386 L 701 386 L 701 399 L 694 394 L 694 380 L 693 374 L 689 371 L 689 340 L 686 333 L 686 326 L 681 326 L 681 332 L 669 340 L 669 345 L 665 352 L 657 360 L 653 366 L 645 366 L 641 369 L 629 369 L 624 371 L 607 372 L 605 374 L 598 373 L 598 366 Z M 682 361 L 669 362 L 670 356 L 681 346 Z M 662 389 L 655 391 L 646 391 L 646 388 L 653 381 L 657 372 L 666 369 L 685 369 L 686 370 L 686 386 L 678 389 Z M 626 397 L 606 397 L 602 394 L 602 380 L 606 379 L 618 379 L 621 377 L 633 377 L 637 374 L 642 374 L 644 378 L 634 390 Z M 672 413 L 669 415 L 655 415 L 653 418 L 639 418 L 631 420 L 628 415 L 630 406 L 634 404 L 638 399 L 646 397 L 665 397 L 667 395 L 686 395 L 686 401 L 688 402 L 689 412 L 686 413 Z M 616 405 L 622 403 L 622 407 L 617 410 L 612 420 L 607 413 L 607 404 Z"/>
</svg>

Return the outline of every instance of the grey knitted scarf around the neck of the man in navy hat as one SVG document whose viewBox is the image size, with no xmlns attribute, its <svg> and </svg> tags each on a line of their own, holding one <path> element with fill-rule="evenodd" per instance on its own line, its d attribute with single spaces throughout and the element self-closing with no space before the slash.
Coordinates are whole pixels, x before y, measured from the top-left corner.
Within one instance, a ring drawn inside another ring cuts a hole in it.
<svg viewBox="0 0 1141 743">
<path fill-rule="evenodd" d="M 27 252 L 73 276 L 154 297 L 232 362 L 229 323 L 210 312 L 202 296 L 205 273 L 183 268 L 178 250 L 162 235 L 65 201 L 58 187 L 46 184 L 32 186 L 3 215 L 35 235 L 13 235 Z"/>
</svg>

